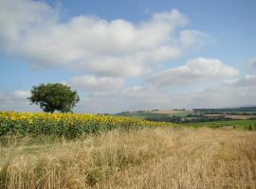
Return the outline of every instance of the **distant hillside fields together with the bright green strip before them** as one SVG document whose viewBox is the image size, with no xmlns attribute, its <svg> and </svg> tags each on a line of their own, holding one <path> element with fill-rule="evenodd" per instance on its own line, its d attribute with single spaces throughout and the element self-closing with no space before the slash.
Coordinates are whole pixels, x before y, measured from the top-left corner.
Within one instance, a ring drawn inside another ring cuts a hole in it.
<svg viewBox="0 0 256 189">
<path fill-rule="evenodd" d="M 233 110 L 233 112 L 232 112 Z M 149 111 L 120 112 L 117 116 L 144 119 L 153 122 L 169 122 L 186 127 L 226 127 L 233 129 L 255 129 L 256 117 L 252 108 L 240 109 L 210 109 L 199 111 L 181 111 L 170 113 L 157 113 Z M 246 112 L 246 111 L 249 112 Z M 243 112 L 242 112 L 243 111 Z"/>
</svg>

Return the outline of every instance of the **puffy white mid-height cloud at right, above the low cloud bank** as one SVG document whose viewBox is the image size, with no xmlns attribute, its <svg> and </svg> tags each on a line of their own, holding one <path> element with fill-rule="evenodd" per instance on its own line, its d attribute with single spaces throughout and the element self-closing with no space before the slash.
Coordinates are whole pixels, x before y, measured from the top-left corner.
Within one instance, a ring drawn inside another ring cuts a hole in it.
<svg viewBox="0 0 256 189">
<path fill-rule="evenodd" d="M 155 73 L 151 82 L 155 86 L 184 86 L 197 81 L 236 77 L 239 71 L 221 60 L 197 58 L 186 64 Z"/>
</svg>

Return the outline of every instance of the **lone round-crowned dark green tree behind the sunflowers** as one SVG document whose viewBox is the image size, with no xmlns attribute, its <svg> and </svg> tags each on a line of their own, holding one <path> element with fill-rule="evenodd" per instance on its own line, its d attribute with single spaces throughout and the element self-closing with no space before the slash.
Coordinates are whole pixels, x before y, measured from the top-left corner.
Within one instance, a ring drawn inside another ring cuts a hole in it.
<svg viewBox="0 0 256 189">
<path fill-rule="evenodd" d="M 72 108 L 80 100 L 76 91 L 61 83 L 47 83 L 33 86 L 31 96 L 27 99 L 31 104 L 39 104 L 44 112 L 72 112 Z"/>
</svg>

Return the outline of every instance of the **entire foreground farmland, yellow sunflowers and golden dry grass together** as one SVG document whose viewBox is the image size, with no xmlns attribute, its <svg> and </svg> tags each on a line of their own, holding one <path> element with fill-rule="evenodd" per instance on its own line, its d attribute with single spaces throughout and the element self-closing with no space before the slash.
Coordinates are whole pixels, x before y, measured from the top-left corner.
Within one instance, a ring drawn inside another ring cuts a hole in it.
<svg viewBox="0 0 256 189">
<path fill-rule="evenodd" d="M 0 124 L 3 189 L 256 184 L 254 120 L 172 124 L 111 115 L 1 112 Z"/>
</svg>

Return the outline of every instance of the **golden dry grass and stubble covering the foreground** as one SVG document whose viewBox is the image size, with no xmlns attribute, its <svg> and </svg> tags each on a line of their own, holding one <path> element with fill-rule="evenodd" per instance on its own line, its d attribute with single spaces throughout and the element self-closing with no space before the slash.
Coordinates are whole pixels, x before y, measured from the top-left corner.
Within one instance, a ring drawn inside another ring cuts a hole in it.
<svg viewBox="0 0 256 189">
<path fill-rule="evenodd" d="M 116 130 L 28 143 L 0 146 L 0 188 L 256 188 L 254 131 Z"/>
</svg>

